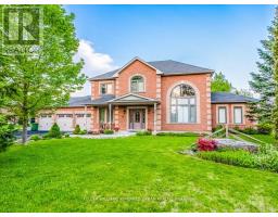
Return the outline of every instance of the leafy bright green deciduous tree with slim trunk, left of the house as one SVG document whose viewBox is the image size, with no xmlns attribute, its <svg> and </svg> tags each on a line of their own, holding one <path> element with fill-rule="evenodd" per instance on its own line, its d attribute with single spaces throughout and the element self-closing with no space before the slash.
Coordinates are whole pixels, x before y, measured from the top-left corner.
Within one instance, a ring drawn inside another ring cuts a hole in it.
<svg viewBox="0 0 278 217">
<path fill-rule="evenodd" d="M 70 93 L 86 81 L 85 75 L 80 74 L 83 61 L 73 61 L 78 49 L 74 14 L 68 14 L 61 5 L 39 7 L 43 12 L 40 26 L 43 37 L 40 38 L 42 43 L 34 48 L 35 54 L 1 56 L 2 69 L 10 72 L 10 80 L 16 81 L 16 93 L 5 105 L 22 120 L 23 143 L 26 142 L 31 116 L 42 108 L 65 104 Z"/>
</svg>

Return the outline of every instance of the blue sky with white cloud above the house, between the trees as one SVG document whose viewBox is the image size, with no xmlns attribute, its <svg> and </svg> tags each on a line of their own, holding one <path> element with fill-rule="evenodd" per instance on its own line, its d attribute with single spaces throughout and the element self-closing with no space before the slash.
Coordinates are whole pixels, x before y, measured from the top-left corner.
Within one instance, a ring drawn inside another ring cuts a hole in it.
<svg viewBox="0 0 278 217">
<path fill-rule="evenodd" d="M 274 5 L 65 5 L 94 76 L 127 63 L 176 60 L 223 72 L 248 88 Z M 86 54 L 87 52 L 87 54 Z"/>
</svg>

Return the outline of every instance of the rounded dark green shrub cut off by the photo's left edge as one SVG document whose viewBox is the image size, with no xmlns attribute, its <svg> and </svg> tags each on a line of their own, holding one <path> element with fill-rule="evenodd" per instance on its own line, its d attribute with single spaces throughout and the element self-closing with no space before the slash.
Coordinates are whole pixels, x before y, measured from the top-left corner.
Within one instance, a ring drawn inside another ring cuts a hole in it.
<svg viewBox="0 0 278 217">
<path fill-rule="evenodd" d="M 13 125 L 9 124 L 7 118 L 0 115 L 0 152 L 13 144 L 16 129 Z"/>
</svg>

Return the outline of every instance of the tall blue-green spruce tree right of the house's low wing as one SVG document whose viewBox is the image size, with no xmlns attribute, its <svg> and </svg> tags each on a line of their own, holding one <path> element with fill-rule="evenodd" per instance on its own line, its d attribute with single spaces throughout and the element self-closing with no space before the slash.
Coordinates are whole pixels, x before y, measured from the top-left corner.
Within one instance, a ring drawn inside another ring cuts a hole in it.
<svg viewBox="0 0 278 217">
<path fill-rule="evenodd" d="M 275 16 L 271 26 L 268 27 L 268 37 L 262 40 L 262 49 L 257 49 L 261 62 L 257 62 L 257 73 L 251 73 L 252 80 L 249 82 L 251 89 L 260 94 L 258 106 L 252 111 L 257 113 L 257 119 L 263 123 L 271 123 L 271 111 L 274 108 L 275 81 L 274 81 L 274 29 L 278 24 Z M 252 108 L 252 107 L 251 107 Z"/>
</svg>

